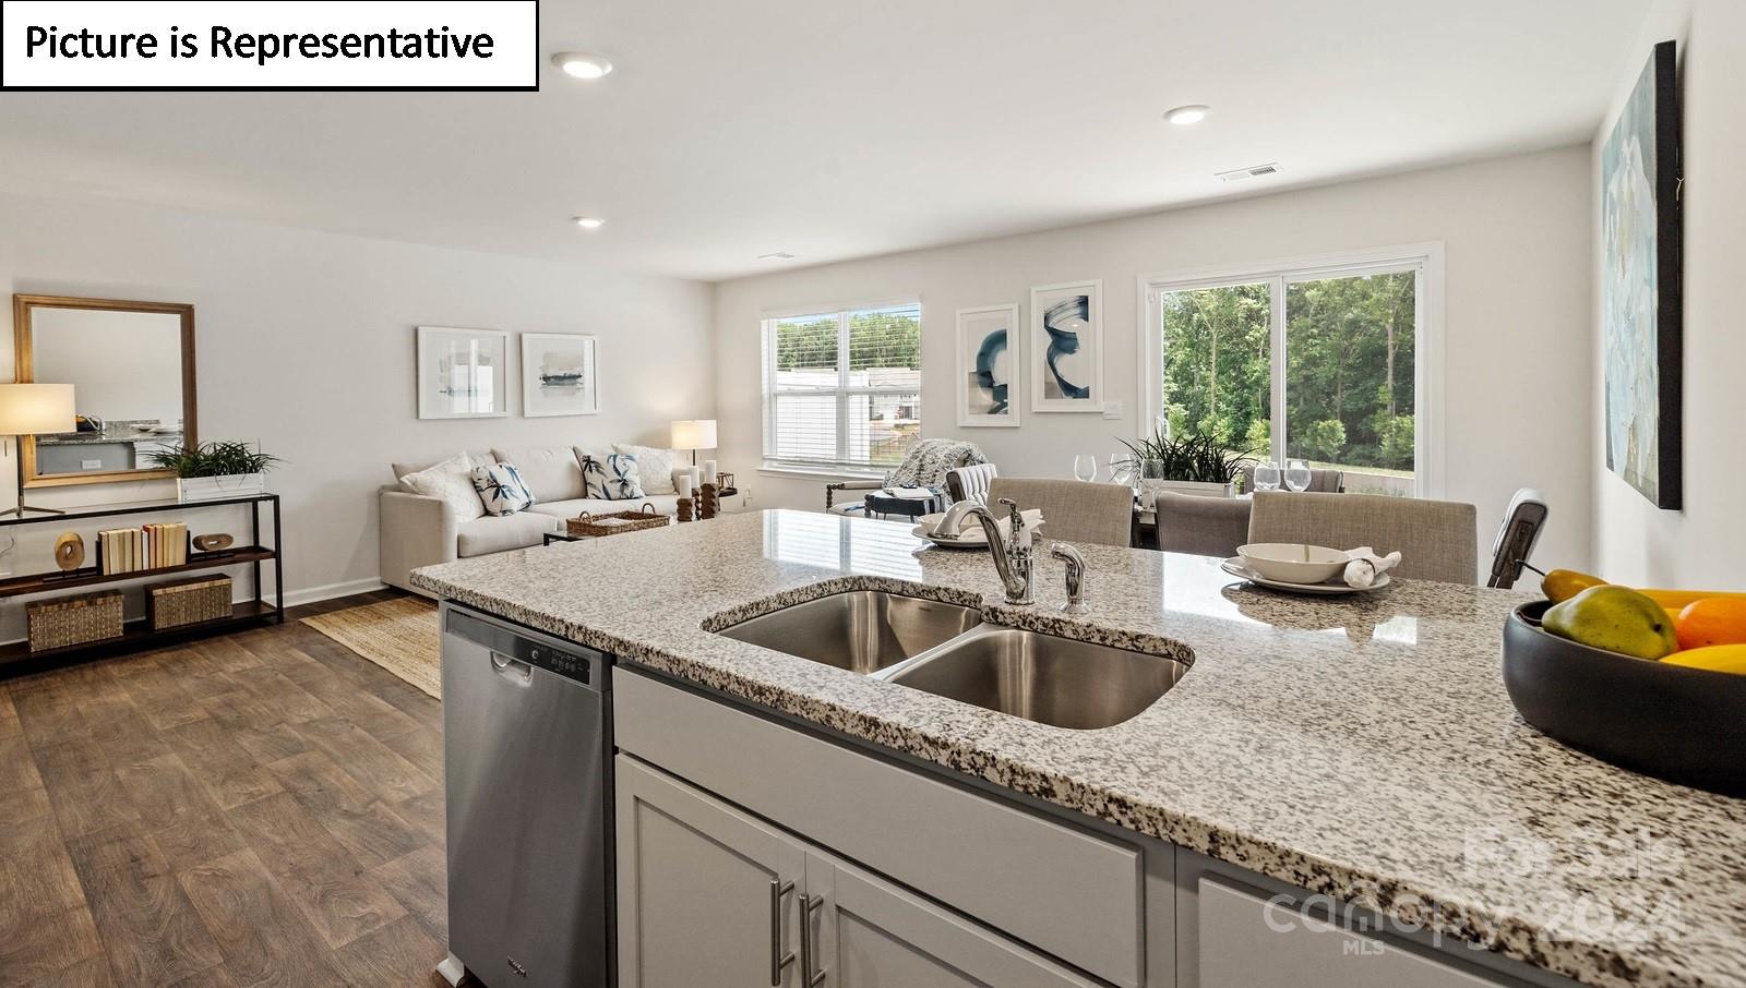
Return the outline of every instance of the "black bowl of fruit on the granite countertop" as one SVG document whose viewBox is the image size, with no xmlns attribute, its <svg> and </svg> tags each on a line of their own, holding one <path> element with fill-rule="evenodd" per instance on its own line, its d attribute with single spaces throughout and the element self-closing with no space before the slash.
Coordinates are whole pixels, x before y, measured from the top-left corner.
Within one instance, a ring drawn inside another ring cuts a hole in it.
<svg viewBox="0 0 1746 988">
<path fill-rule="evenodd" d="M 1552 571 L 1503 625 L 1523 719 L 1633 772 L 1746 796 L 1746 595 Z"/>
</svg>

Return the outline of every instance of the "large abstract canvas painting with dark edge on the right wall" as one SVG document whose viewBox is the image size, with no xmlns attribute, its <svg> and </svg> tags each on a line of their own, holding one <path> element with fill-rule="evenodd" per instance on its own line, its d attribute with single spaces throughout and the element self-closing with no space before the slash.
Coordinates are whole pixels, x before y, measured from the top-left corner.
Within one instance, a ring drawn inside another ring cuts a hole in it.
<svg viewBox="0 0 1746 988">
<path fill-rule="evenodd" d="M 1680 506 L 1680 106 L 1673 42 L 1655 45 L 1601 147 L 1606 468 Z"/>
</svg>

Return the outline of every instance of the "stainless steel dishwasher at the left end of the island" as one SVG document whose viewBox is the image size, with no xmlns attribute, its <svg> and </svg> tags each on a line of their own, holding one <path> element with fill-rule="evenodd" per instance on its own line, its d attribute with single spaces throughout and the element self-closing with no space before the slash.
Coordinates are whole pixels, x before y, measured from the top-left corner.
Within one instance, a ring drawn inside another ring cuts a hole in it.
<svg viewBox="0 0 1746 988">
<path fill-rule="evenodd" d="M 442 628 L 450 957 L 438 972 L 608 988 L 611 662 L 454 604 Z"/>
</svg>

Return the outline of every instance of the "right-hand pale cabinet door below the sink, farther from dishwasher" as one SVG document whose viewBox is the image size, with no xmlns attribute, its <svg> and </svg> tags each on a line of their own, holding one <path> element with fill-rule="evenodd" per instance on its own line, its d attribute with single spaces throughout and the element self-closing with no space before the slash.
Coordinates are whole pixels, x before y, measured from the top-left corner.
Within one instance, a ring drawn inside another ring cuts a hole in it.
<svg viewBox="0 0 1746 988">
<path fill-rule="evenodd" d="M 1095 988 L 1095 981 L 822 852 L 807 857 L 800 985 Z"/>
</svg>

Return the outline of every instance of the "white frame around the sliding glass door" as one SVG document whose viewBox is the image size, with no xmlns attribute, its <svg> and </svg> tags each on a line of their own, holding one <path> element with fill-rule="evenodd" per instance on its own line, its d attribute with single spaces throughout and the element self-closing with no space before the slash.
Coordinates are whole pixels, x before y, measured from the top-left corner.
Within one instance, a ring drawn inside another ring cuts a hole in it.
<svg viewBox="0 0 1746 988">
<path fill-rule="evenodd" d="M 1196 288 L 1224 288 L 1231 285 L 1269 285 L 1268 307 L 1268 360 L 1269 405 L 1273 422 L 1271 456 L 1285 463 L 1285 440 L 1290 422 L 1285 412 L 1285 290 L 1299 281 L 1323 278 L 1364 278 L 1416 271 L 1418 286 L 1413 305 L 1413 494 L 1416 497 L 1444 496 L 1444 246 L 1440 241 L 1402 244 L 1392 248 L 1327 253 L 1313 257 L 1278 258 L 1255 264 L 1201 267 L 1142 274 L 1138 278 L 1138 363 L 1140 363 L 1140 417 L 1137 435 L 1147 438 L 1152 422 L 1163 408 L 1163 333 L 1159 332 L 1159 304 L 1166 292 Z"/>
</svg>

